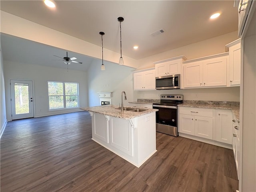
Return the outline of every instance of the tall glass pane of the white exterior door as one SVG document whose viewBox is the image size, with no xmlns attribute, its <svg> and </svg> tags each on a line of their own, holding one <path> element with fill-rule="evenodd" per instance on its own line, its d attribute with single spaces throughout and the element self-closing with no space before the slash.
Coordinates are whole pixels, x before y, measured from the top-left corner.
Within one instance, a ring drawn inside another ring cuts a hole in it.
<svg viewBox="0 0 256 192">
<path fill-rule="evenodd" d="M 29 90 L 28 84 L 14 84 L 15 113 L 29 113 Z"/>
</svg>

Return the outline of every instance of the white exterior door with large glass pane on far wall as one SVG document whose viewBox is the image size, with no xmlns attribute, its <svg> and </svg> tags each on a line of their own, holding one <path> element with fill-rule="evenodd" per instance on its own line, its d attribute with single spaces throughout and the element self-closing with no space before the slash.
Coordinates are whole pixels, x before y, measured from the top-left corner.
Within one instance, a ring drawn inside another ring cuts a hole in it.
<svg viewBox="0 0 256 192">
<path fill-rule="evenodd" d="M 12 120 L 34 117 L 33 84 L 27 80 L 10 80 Z"/>
</svg>

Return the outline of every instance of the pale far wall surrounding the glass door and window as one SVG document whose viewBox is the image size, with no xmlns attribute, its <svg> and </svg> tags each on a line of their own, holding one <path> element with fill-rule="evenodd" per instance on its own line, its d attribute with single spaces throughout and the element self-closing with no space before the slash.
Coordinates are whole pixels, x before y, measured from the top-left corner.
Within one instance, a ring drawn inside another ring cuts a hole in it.
<svg viewBox="0 0 256 192">
<path fill-rule="evenodd" d="M 6 114 L 8 121 L 11 120 L 10 79 L 34 81 L 34 117 L 79 111 L 78 108 L 49 111 L 48 81 L 77 82 L 79 85 L 79 107 L 88 106 L 86 72 L 75 70 L 67 71 L 67 69 L 62 68 L 4 61 Z"/>
</svg>

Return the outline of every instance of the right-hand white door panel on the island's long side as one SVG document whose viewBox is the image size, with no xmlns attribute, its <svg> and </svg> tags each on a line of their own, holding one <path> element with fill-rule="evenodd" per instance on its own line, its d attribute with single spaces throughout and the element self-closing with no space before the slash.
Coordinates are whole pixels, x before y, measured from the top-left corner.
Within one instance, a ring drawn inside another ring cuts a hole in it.
<svg viewBox="0 0 256 192">
<path fill-rule="evenodd" d="M 110 118 L 110 145 L 133 156 L 132 126 L 129 120 Z"/>
</svg>

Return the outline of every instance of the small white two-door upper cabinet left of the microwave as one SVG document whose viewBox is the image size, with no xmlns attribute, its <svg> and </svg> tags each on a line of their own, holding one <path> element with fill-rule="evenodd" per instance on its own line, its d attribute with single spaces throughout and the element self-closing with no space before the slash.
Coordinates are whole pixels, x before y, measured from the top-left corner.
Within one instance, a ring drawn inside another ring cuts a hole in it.
<svg viewBox="0 0 256 192">
<path fill-rule="evenodd" d="M 144 70 L 133 74 L 134 90 L 154 90 L 156 89 L 155 70 Z"/>
</svg>

